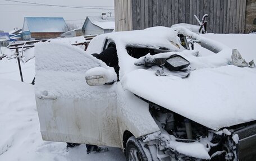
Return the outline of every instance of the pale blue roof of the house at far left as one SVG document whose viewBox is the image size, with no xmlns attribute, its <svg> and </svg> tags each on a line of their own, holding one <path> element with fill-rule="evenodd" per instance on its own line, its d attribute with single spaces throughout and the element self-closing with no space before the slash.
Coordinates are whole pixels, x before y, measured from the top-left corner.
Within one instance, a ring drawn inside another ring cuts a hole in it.
<svg viewBox="0 0 256 161">
<path fill-rule="evenodd" d="M 25 17 L 23 31 L 63 33 L 66 31 L 66 22 L 62 17 Z"/>
</svg>

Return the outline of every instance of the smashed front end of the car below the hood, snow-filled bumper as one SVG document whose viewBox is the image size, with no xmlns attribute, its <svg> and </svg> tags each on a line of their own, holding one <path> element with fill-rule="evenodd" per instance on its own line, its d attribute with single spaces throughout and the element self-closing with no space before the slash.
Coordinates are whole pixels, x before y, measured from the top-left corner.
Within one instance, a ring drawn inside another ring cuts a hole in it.
<svg viewBox="0 0 256 161">
<path fill-rule="evenodd" d="M 213 135 L 221 137 L 218 143 Z M 243 128 L 209 130 L 208 137 L 199 140 L 178 139 L 166 131 L 143 136 L 144 144 L 156 160 L 254 160 L 256 158 L 256 124 Z M 152 148 L 153 147 L 153 148 Z M 154 160 L 154 159 L 153 159 Z"/>
</svg>

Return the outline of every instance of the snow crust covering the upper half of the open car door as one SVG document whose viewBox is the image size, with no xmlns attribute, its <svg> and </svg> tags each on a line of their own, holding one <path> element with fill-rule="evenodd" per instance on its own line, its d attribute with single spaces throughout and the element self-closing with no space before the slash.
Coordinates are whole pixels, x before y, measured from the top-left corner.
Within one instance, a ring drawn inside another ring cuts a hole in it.
<svg viewBox="0 0 256 161">
<path fill-rule="evenodd" d="M 53 98 L 56 96 L 86 98 L 90 94 L 100 96 L 103 91 L 109 91 L 106 86 L 100 86 L 95 87 L 102 89 L 98 93 L 86 92 L 89 86 L 85 81 L 85 72 L 94 67 L 110 67 L 86 54 L 82 49 L 65 43 L 37 43 L 35 61 L 35 91 L 39 97 L 45 90 L 48 91 L 48 96 L 51 95 Z M 112 91 L 109 91 L 109 94 L 111 93 Z"/>
</svg>

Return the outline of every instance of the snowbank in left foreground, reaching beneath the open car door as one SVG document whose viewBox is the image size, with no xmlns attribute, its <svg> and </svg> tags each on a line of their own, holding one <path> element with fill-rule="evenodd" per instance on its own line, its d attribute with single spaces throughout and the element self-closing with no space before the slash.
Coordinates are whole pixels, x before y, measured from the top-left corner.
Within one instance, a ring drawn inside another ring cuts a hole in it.
<svg viewBox="0 0 256 161">
<path fill-rule="evenodd" d="M 125 160 L 118 148 L 88 155 L 85 145 L 67 150 L 65 142 L 43 141 L 34 86 L 0 79 L 0 89 L 0 160 Z"/>
</svg>

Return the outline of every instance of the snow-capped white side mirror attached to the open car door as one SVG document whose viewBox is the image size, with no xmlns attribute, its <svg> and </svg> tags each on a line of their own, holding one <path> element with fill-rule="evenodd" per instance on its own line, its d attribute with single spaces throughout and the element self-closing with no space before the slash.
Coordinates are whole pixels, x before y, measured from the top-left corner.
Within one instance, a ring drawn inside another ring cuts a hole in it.
<svg viewBox="0 0 256 161">
<path fill-rule="evenodd" d="M 85 73 L 85 80 L 89 86 L 113 84 L 117 81 L 114 68 L 95 67 Z"/>
</svg>

